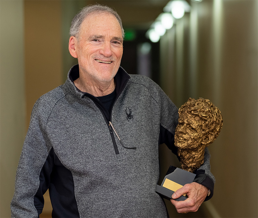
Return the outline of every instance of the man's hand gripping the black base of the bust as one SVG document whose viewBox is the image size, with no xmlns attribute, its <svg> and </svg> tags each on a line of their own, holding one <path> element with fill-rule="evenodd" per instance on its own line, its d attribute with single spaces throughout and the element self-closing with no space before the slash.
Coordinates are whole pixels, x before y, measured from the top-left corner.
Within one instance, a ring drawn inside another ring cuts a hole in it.
<svg viewBox="0 0 258 218">
<path fill-rule="evenodd" d="M 187 194 L 188 198 L 186 200 L 174 200 L 183 194 Z M 207 194 L 207 187 L 197 182 L 192 182 L 175 191 L 175 193 L 172 194 L 173 199 L 170 199 L 170 201 L 175 206 L 178 213 L 196 212 L 205 200 Z"/>
</svg>

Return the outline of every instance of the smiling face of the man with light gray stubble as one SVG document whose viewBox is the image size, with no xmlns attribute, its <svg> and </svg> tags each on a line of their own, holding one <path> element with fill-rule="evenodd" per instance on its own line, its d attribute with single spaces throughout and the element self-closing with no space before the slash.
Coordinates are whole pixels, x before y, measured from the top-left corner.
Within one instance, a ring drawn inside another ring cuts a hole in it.
<svg viewBox="0 0 258 218">
<path fill-rule="evenodd" d="M 77 42 L 80 73 L 95 81 L 111 81 L 123 54 L 122 30 L 115 16 L 108 13 L 87 16 Z"/>
</svg>

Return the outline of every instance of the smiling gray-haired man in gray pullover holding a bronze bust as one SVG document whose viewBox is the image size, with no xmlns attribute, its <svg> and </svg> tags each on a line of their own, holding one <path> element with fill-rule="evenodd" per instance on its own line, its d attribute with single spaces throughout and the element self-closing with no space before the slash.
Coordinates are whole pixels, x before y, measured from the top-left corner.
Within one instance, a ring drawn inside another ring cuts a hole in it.
<svg viewBox="0 0 258 218">
<path fill-rule="evenodd" d="M 177 153 L 178 109 L 152 80 L 120 67 L 124 33 L 111 8 L 83 8 L 70 34 L 69 52 L 78 65 L 34 105 L 12 217 L 38 217 L 47 189 L 53 217 L 167 217 L 155 193 L 158 145 Z M 209 158 L 202 167 L 202 176 L 183 187 L 191 194 L 178 212 L 195 211 L 211 197 Z"/>
</svg>

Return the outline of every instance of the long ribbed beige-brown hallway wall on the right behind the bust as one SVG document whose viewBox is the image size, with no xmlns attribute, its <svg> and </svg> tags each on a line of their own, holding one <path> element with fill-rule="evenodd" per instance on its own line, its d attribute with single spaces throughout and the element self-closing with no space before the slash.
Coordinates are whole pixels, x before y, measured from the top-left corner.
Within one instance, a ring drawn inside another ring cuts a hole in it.
<svg viewBox="0 0 258 218">
<path fill-rule="evenodd" d="M 216 184 L 204 205 L 214 217 L 258 215 L 257 10 L 256 0 L 192 3 L 160 42 L 162 88 L 176 105 L 203 97 L 223 115 L 209 147 Z"/>
</svg>

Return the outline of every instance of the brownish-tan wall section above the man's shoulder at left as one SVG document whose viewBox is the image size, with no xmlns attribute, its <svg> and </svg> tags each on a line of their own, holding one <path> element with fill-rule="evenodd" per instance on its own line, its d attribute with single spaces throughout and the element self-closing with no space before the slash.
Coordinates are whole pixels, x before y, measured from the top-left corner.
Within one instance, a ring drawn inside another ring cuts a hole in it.
<svg viewBox="0 0 258 218">
<path fill-rule="evenodd" d="M 24 1 L 27 126 L 35 101 L 63 83 L 61 1 Z"/>
</svg>

